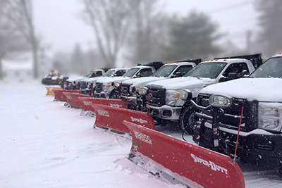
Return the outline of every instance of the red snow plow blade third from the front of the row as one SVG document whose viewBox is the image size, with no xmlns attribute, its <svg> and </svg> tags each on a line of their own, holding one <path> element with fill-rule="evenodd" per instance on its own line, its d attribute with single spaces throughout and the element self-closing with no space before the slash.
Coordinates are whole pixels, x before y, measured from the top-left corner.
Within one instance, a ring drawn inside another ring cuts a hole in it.
<svg viewBox="0 0 282 188">
<path fill-rule="evenodd" d="M 126 108 L 125 103 L 120 99 L 99 99 L 79 96 L 78 100 L 80 100 L 82 104 L 82 111 L 80 115 L 86 115 L 88 112 L 94 113 L 94 108 L 90 106 L 90 104 L 102 104 L 117 108 Z"/>
</svg>

